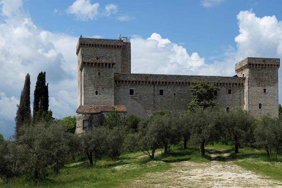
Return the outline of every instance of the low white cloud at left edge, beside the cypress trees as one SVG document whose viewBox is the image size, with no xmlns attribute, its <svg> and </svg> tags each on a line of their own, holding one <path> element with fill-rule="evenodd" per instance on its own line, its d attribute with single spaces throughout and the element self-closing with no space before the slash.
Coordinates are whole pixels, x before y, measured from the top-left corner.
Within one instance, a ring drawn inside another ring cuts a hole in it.
<svg viewBox="0 0 282 188">
<path fill-rule="evenodd" d="M 14 96 L 9 98 L 4 92 L 0 92 L 0 120 L 14 120 L 19 100 Z"/>
</svg>

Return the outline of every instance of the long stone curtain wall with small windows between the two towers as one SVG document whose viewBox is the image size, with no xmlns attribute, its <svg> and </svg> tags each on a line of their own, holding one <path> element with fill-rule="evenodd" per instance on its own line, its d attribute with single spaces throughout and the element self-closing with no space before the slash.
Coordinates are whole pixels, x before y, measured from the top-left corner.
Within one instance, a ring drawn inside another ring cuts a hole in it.
<svg viewBox="0 0 282 188">
<path fill-rule="evenodd" d="M 192 81 L 206 80 L 221 87 L 216 101 L 226 109 L 244 108 L 244 78 L 221 76 L 115 74 L 115 105 L 125 105 L 127 114 L 147 119 L 161 110 L 184 113 L 191 101 Z M 129 95 L 134 89 L 134 95 Z M 159 95 L 159 90 L 164 95 Z M 228 95 L 227 90 L 232 89 Z M 175 93 L 175 95 L 174 95 Z"/>
</svg>

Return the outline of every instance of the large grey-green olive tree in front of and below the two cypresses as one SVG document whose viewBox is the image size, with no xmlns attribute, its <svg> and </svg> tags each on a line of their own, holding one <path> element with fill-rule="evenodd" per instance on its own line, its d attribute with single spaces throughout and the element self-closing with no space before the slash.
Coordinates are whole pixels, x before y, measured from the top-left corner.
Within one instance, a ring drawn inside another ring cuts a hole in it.
<svg viewBox="0 0 282 188">
<path fill-rule="evenodd" d="M 22 171 L 32 180 L 45 179 L 48 165 L 63 162 L 70 153 L 66 127 L 58 122 L 23 126 L 20 133 L 18 144 Z M 55 166 L 58 173 L 58 165 Z"/>
</svg>

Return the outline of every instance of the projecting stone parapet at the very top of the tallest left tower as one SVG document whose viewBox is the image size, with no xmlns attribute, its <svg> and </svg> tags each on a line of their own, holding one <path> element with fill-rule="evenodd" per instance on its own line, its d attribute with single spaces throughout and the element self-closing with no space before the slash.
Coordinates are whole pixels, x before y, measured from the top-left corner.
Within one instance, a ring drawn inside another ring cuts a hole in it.
<svg viewBox="0 0 282 188">
<path fill-rule="evenodd" d="M 124 41 L 120 39 L 105 39 L 105 38 L 83 38 L 78 39 L 76 45 L 76 55 L 80 48 L 106 48 L 121 50 Z"/>
</svg>

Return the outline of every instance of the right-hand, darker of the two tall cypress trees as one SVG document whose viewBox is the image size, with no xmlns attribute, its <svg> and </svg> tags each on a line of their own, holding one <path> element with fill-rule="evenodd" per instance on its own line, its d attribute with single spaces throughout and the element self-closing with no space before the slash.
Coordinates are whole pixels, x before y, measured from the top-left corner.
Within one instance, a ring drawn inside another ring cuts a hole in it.
<svg viewBox="0 0 282 188">
<path fill-rule="evenodd" d="M 40 72 L 37 76 L 34 90 L 33 118 L 35 118 L 38 111 L 40 111 L 41 113 L 47 113 L 49 108 L 48 97 L 48 83 L 46 85 L 46 72 Z"/>
</svg>

